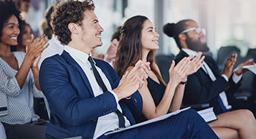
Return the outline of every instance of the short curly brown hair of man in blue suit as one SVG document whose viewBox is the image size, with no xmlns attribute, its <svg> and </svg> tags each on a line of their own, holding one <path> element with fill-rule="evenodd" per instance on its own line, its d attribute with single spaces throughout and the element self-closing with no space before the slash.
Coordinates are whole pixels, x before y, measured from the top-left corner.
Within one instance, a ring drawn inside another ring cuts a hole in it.
<svg viewBox="0 0 256 139">
<path fill-rule="evenodd" d="M 69 31 L 69 23 L 77 23 L 82 25 L 83 12 L 86 9 L 94 10 L 94 1 L 61 1 L 56 6 L 52 15 L 53 33 L 58 36 L 61 44 L 68 44 L 71 41 L 71 32 Z"/>
</svg>

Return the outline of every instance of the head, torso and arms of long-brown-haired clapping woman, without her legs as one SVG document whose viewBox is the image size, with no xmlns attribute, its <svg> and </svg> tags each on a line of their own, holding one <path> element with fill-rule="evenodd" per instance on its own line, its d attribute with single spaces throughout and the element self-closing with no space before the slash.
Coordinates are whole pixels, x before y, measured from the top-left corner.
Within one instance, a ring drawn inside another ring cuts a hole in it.
<svg viewBox="0 0 256 139">
<path fill-rule="evenodd" d="M 136 60 L 151 63 L 148 79 L 139 90 L 143 98 L 143 115 L 138 117 L 138 122 L 178 110 L 181 107 L 187 75 L 197 71 L 203 61 L 203 58 L 200 59 L 201 54 L 193 60 L 191 56 L 186 57 L 176 66 L 173 61 L 169 69 L 170 82 L 165 84 L 157 64 L 154 63 L 154 51 L 159 48 L 158 38 L 159 34 L 147 17 L 131 17 L 121 28 L 114 65 L 118 76 L 123 76 L 134 67 Z"/>
</svg>

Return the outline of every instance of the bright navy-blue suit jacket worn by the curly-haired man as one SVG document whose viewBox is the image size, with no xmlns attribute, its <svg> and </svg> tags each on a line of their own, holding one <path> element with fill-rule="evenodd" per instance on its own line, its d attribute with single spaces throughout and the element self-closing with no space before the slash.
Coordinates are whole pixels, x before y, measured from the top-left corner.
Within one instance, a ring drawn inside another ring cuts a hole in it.
<svg viewBox="0 0 256 139">
<path fill-rule="evenodd" d="M 116 88 L 120 81 L 116 71 L 103 60 L 94 61 L 107 76 L 112 89 Z M 93 138 L 97 117 L 117 111 L 116 100 L 111 92 L 94 97 L 83 69 L 66 51 L 43 61 L 39 83 L 50 106 L 46 138 Z M 118 103 L 129 122 L 135 124 L 133 116 L 140 115 L 143 108 L 140 92 Z"/>
</svg>

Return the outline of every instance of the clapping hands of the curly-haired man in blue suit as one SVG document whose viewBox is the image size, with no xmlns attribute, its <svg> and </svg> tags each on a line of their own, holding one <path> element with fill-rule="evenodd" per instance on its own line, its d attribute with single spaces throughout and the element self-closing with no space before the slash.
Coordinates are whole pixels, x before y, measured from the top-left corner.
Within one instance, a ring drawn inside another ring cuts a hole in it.
<svg viewBox="0 0 256 139">
<path fill-rule="evenodd" d="M 142 61 L 139 60 L 135 67 L 131 71 L 127 71 L 124 76 L 122 76 L 118 87 L 113 90 L 118 95 L 118 100 L 122 98 L 127 98 L 132 95 L 139 87 L 142 87 L 146 78 L 148 78 L 148 66 L 149 63 L 143 65 Z"/>
</svg>

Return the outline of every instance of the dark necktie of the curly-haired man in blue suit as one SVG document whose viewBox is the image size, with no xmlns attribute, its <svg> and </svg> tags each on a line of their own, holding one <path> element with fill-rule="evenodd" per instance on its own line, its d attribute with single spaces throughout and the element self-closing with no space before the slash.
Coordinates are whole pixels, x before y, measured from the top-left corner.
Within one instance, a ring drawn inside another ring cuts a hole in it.
<svg viewBox="0 0 256 139">
<path fill-rule="evenodd" d="M 102 78 L 99 76 L 99 72 L 97 71 L 94 61 L 92 60 L 91 56 L 88 57 L 89 62 L 91 63 L 91 68 L 92 71 L 94 71 L 94 76 L 99 84 L 99 87 L 102 87 L 103 92 L 107 92 L 108 89 L 105 86 L 104 82 L 102 81 Z M 117 110 L 116 114 L 118 116 L 118 121 L 119 121 L 119 127 L 124 127 L 124 116 L 121 114 L 121 111 Z"/>
</svg>

